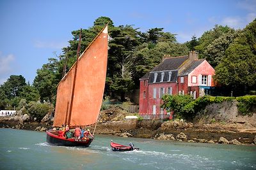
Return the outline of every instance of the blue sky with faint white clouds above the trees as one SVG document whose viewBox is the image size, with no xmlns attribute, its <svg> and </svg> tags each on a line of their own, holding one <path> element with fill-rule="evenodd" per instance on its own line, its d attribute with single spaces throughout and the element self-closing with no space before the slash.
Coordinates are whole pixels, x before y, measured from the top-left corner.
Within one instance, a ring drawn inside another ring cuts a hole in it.
<svg viewBox="0 0 256 170">
<path fill-rule="evenodd" d="M 216 24 L 243 29 L 256 18 L 256 0 L 1 0 L 0 85 L 10 75 L 32 84 L 36 70 L 68 46 L 71 32 L 92 27 L 99 17 L 142 32 L 164 28 L 184 43 Z"/>
</svg>

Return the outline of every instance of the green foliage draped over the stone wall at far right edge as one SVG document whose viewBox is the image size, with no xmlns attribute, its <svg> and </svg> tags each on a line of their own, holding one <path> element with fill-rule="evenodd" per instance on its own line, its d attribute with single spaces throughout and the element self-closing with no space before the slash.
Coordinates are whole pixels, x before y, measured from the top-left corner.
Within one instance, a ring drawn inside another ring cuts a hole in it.
<svg viewBox="0 0 256 170">
<path fill-rule="evenodd" d="M 256 96 L 236 97 L 238 111 L 242 115 L 252 115 L 256 111 Z"/>
</svg>

